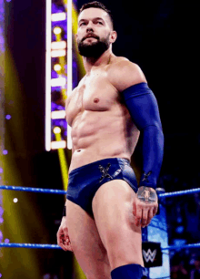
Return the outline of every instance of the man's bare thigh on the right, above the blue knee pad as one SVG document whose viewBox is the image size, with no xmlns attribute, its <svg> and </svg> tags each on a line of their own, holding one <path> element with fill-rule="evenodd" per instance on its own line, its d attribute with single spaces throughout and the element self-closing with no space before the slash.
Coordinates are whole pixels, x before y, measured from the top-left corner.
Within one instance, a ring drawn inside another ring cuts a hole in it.
<svg viewBox="0 0 200 279">
<path fill-rule="evenodd" d="M 108 181 L 95 193 L 93 212 L 111 270 L 128 263 L 144 265 L 141 227 L 135 225 L 135 191 L 126 181 Z"/>
</svg>

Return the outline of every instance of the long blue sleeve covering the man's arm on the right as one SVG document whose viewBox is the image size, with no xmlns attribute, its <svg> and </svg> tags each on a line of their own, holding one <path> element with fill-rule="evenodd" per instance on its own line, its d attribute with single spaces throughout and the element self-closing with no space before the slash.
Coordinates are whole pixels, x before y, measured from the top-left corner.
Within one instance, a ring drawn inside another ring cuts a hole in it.
<svg viewBox="0 0 200 279">
<path fill-rule="evenodd" d="M 164 134 L 154 93 L 145 82 L 121 92 L 143 140 L 143 172 L 139 186 L 156 188 L 164 154 Z"/>
</svg>

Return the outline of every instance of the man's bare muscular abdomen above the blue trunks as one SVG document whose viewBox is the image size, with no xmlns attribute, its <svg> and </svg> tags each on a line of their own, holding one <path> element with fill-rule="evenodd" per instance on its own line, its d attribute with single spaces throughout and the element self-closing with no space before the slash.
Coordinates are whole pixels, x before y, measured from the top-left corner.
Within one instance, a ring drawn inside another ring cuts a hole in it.
<svg viewBox="0 0 200 279">
<path fill-rule="evenodd" d="M 105 111 L 84 110 L 75 117 L 69 172 L 105 158 L 131 160 L 139 131 L 124 106 L 114 107 Z"/>
</svg>

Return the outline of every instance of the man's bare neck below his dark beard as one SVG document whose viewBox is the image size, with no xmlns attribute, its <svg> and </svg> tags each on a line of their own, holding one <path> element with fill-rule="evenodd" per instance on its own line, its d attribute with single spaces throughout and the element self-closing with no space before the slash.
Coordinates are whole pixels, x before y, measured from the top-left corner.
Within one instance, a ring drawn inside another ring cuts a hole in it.
<svg viewBox="0 0 200 279">
<path fill-rule="evenodd" d="M 101 57 L 83 57 L 84 58 L 84 67 L 86 75 L 91 73 L 91 70 L 95 67 L 103 67 L 110 63 L 113 53 L 110 49 L 107 49 Z"/>
</svg>

